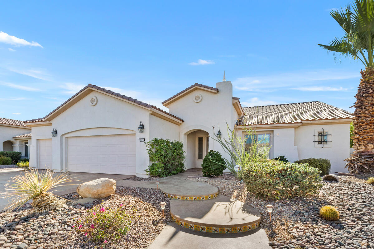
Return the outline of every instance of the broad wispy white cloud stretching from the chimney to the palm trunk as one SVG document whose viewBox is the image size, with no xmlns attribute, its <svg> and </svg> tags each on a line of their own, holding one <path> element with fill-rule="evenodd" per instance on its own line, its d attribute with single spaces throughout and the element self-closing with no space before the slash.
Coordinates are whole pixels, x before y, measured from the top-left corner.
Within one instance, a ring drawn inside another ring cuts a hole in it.
<svg viewBox="0 0 374 249">
<path fill-rule="evenodd" d="M 243 77 L 233 80 L 232 83 L 236 89 L 243 91 L 268 91 L 269 89 L 274 90 L 284 87 L 301 87 L 302 85 L 310 85 L 310 83 L 318 81 L 358 79 L 359 77 L 360 75 L 357 72 L 318 69 Z"/>
</svg>

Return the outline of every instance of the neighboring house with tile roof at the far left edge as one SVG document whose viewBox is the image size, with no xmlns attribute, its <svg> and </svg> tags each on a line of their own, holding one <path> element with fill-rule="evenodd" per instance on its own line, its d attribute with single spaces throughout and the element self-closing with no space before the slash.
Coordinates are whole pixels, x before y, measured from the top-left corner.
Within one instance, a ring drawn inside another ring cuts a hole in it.
<svg viewBox="0 0 374 249">
<path fill-rule="evenodd" d="M 28 158 L 30 144 L 31 127 L 24 121 L 0 118 L 0 151 L 19 151 L 22 157 Z"/>
</svg>

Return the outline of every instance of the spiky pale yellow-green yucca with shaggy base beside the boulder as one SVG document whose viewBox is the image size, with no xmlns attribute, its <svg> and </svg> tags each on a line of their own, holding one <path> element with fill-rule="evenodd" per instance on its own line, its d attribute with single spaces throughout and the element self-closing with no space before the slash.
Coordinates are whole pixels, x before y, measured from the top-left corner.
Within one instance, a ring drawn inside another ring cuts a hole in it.
<svg viewBox="0 0 374 249">
<path fill-rule="evenodd" d="M 2 194 L 10 199 L 10 204 L 6 206 L 6 209 L 8 211 L 19 209 L 30 200 L 32 200 L 31 205 L 36 214 L 59 208 L 65 200 L 56 198 L 56 195 L 49 191 L 55 187 L 73 185 L 63 184 L 73 181 L 78 180 L 68 177 L 67 172 L 53 177 L 53 171 L 50 169 L 43 170 L 41 173 L 37 169 L 24 171 L 10 178 L 5 184 L 6 191 Z"/>
</svg>

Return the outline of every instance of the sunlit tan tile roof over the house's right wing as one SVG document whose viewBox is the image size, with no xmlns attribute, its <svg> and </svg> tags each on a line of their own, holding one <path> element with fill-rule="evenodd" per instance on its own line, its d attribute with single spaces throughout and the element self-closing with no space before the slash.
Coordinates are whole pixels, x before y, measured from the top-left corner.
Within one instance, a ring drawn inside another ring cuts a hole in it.
<svg viewBox="0 0 374 249">
<path fill-rule="evenodd" d="M 243 108 L 237 125 L 294 124 L 303 121 L 351 119 L 353 114 L 326 103 L 314 101 Z"/>
</svg>

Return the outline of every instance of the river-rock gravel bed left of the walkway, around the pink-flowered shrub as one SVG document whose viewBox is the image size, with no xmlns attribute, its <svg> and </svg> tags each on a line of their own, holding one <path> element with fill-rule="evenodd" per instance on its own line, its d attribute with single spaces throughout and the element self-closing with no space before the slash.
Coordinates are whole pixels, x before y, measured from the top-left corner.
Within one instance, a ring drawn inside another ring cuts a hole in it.
<svg viewBox="0 0 374 249">
<path fill-rule="evenodd" d="M 80 199 L 77 193 L 64 197 L 69 200 Z M 169 200 L 160 191 L 136 187 L 117 187 L 116 193 L 110 197 L 84 205 L 67 204 L 61 209 L 41 215 L 34 215 L 32 207 L 25 205 L 16 212 L 0 213 L 0 249 L 145 248 L 169 222 L 169 218 L 162 218 L 160 202 L 167 203 L 165 217 L 170 217 Z M 87 211 L 94 206 L 108 209 L 120 204 L 129 211 L 135 207 L 138 215 L 120 245 L 95 245 L 89 242 L 83 233 L 77 233 L 73 227 L 77 219 L 85 217 Z"/>
</svg>

